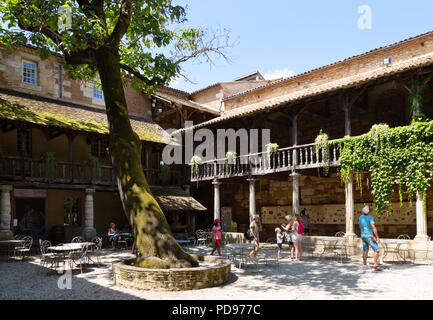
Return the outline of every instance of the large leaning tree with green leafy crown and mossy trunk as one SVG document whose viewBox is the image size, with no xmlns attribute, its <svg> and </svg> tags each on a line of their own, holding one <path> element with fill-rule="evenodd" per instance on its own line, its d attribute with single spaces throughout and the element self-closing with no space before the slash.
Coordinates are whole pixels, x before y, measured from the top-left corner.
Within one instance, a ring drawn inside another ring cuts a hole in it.
<svg viewBox="0 0 433 320">
<path fill-rule="evenodd" d="M 143 267 L 197 266 L 172 236 L 141 165 L 141 142 L 133 131 L 124 85 L 151 94 L 181 73 L 180 64 L 215 53 L 224 56 L 227 33 L 209 36 L 184 27 L 185 8 L 171 0 L 3 0 L 0 43 L 27 43 L 41 58 L 64 57 L 69 77 L 99 76 L 110 131 L 111 160 L 123 208 Z M 126 81 L 126 79 L 128 79 Z"/>
</svg>

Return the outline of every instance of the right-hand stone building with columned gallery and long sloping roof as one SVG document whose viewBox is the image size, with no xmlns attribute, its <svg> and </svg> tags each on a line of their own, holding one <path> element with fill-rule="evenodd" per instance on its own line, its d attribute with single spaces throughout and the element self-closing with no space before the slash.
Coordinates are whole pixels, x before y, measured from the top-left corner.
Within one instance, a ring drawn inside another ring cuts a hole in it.
<svg viewBox="0 0 433 320">
<path fill-rule="evenodd" d="M 414 80 L 426 79 L 433 72 L 433 33 L 425 33 L 380 47 L 335 63 L 295 75 L 267 81 L 219 100 L 219 117 L 181 129 L 191 134 L 201 128 L 270 129 L 271 142 L 279 145 L 271 161 L 261 150 L 261 160 L 242 164 L 240 154 L 231 165 L 225 159 L 211 159 L 192 174 L 192 194 L 206 207 L 214 208 L 207 223 L 221 217 L 229 207 L 238 231 L 246 230 L 252 215 L 260 213 L 264 237 L 274 237 L 273 229 L 284 222 L 287 213 L 305 209 L 310 217 L 310 235 L 334 235 L 343 231 L 359 236 L 361 207 L 372 205 L 373 197 L 349 179 L 347 189 L 338 176 L 339 151 L 329 150 L 331 168 L 314 153 L 320 130 L 330 140 L 357 136 L 372 125 L 390 127 L 410 124 L 407 87 Z M 433 118 L 433 85 L 423 95 L 424 112 Z M 251 157 L 251 155 L 250 155 Z M 198 184 L 197 184 L 198 182 Z M 385 238 L 408 234 L 426 243 L 433 233 L 433 190 L 429 189 L 426 212 L 421 199 L 403 199 L 400 207 L 394 193 L 391 216 L 375 216 L 379 233 Z M 373 212 L 373 215 L 375 213 Z M 262 240 L 265 240 L 262 238 Z"/>
</svg>

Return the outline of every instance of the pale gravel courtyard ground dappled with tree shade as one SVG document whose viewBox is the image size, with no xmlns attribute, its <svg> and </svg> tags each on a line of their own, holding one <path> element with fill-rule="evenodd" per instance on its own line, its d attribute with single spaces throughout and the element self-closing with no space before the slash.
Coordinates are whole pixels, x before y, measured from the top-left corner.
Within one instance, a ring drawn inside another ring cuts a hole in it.
<svg viewBox="0 0 433 320">
<path fill-rule="evenodd" d="M 209 248 L 194 248 L 209 253 Z M 433 265 L 385 263 L 384 272 L 363 268 L 360 258 L 343 264 L 329 258 L 288 259 L 275 265 L 238 270 L 232 266 L 228 283 L 184 292 L 149 292 L 116 287 L 111 263 L 131 255 L 122 250 L 104 251 L 103 265 L 74 270 L 72 289 L 60 290 L 60 275 L 49 274 L 39 259 L 7 261 L 0 258 L 0 299 L 433 299 Z"/>
</svg>

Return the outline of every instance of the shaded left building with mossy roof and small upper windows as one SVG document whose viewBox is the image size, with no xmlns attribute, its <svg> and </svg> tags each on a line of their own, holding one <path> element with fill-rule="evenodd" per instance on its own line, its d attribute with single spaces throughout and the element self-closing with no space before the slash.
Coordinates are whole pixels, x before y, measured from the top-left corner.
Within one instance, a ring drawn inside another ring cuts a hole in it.
<svg viewBox="0 0 433 320">
<path fill-rule="evenodd" d="M 50 238 L 64 230 L 69 241 L 106 234 L 111 222 L 129 228 L 109 158 L 103 92 L 96 82 L 68 79 L 61 59 L 41 60 L 31 46 L 0 47 L 1 238 Z M 219 113 L 178 90 L 160 91 L 148 97 L 127 87 L 130 121 L 142 141 L 145 175 L 173 231 L 193 232 L 195 216 L 206 208 L 185 190 L 184 168 L 161 163 L 170 142 L 164 128 L 181 128 L 183 116 L 198 123 Z"/>
</svg>

